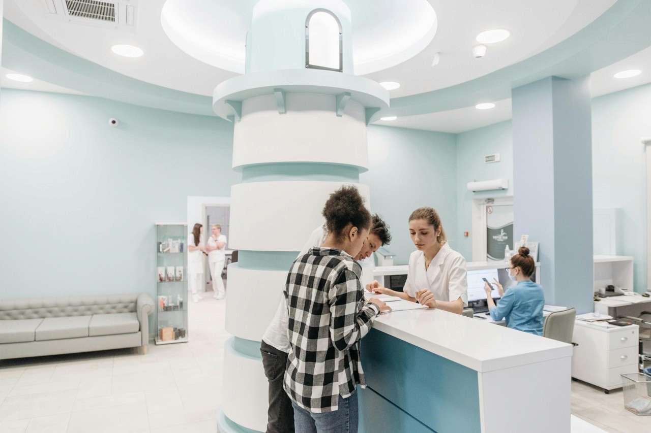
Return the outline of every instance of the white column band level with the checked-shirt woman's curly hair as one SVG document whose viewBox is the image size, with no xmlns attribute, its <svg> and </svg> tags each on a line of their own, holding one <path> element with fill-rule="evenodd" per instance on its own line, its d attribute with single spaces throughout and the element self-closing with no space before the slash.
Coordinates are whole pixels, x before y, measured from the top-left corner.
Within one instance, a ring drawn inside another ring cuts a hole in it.
<svg viewBox="0 0 651 433">
<path fill-rule="evenodd" d="M 300 251 L 307 235 L 323 224 L 321 211 L 329 195 L 346 184 L 278 181 L 233 185 L 230 190 L 230 248 Z M 368 185 L 353 185 L 370 207 Z"/>
</svg>

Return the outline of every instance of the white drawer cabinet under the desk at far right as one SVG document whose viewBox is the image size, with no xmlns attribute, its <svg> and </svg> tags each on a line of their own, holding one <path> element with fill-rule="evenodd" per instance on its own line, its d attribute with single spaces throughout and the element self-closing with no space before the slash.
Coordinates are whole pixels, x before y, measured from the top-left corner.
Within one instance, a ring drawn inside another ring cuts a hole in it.
<svg viewBox="0 0 651 433">
<path fill-rule="evenodd" d="M 572 377 L 608 392 L 622 387 L 622 373 L 637 373 L 639 326 L 611 326 L 576 321 L 572 341 Z"/>
</svg>

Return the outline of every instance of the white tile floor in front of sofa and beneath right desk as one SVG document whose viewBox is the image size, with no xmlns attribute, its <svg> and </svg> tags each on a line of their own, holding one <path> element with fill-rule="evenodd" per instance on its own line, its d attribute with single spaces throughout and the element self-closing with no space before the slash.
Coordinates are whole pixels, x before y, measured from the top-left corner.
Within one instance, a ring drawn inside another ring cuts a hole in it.
<svg viewBox="0 0 651 433">
<path fill-rule="evenodd" d="M 190 341 L 0 361 L 0 433 L 214 433 L 221 404 L 225 301 L 189 304 Z M 573 432 L 651 432 L 651 416 L 572 382 Z"/>
</svg>

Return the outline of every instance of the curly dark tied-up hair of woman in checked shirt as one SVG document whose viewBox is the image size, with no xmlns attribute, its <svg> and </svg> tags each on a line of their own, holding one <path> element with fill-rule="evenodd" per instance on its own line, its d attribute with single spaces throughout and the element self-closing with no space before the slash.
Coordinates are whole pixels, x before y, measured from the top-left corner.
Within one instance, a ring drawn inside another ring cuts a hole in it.
<svg viewBox="0 0 651 433">
<path fill-rule="evenodd" d="M 348 224 L 357 230 L 370 229 L 371 216 L 364 206 L 364 198 L 353 185 L 344 185 L 330 194 L 322 212 L 326 218 L 326 227 L 337 239 L 345 236 L 344 229 Z"/>
</svg>

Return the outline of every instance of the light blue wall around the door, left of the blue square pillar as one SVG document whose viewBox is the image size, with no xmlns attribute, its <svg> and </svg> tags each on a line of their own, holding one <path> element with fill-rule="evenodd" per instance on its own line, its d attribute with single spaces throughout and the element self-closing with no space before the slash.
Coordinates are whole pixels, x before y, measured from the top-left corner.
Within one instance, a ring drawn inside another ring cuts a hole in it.
<svg viewBox="0 0 651 433">
<path fill-rule="evenodd" d="M 499 153 L 499 163 L 484 162 L 486 155 Z M 467 261 L 473 259 L 473 200 L 513 195 L 513 142 L 511 122 L 501 122 L 456 136 L 456 190 L 458 213 L 458 252 Z M 472 192 L 468 182 L 508 179 L 508 189 Z M 463 237 L 464 231 L 469 237 Z"/>
</svg>

